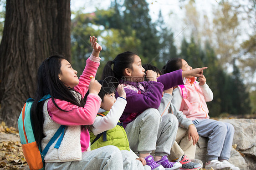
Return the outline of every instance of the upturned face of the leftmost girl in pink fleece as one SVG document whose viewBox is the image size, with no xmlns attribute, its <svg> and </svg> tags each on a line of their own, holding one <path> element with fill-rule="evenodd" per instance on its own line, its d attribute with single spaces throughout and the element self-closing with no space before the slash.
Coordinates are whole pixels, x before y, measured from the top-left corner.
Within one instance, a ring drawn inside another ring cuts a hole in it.
<svg viewBox="0 0 256 170">
<path fill-rule="evenodd" d="M 71 88 L 79 83 L 77 71 L 74 70 L 71 64 L 65 59 L 61 60 L 61 73 L 59 74 L 59 79 L 62 83 Z"/>
</svg>

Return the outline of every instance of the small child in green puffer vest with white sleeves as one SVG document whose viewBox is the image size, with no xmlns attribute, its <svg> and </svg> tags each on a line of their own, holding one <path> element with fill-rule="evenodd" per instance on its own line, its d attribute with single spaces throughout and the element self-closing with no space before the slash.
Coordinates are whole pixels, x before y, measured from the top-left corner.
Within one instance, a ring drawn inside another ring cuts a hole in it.
<svg viewBox="0 0 256 170">
<path fill-rule="evenodd" d="M 118 85 L 118 81 L 110 79 L 98 81 L 102 88 L 99 96 L 102 99 L 97 117 L 94 120 L 94 128 L 90 132 L 91 150 L 106 146 L 117 146 L 123 156 L 123 163 L 129 162 L 132 170 L 151 170 L 146 165 L 146 160 L 139 158 L 130 148 L 126 132 L 120 123 L 119 118 L 123 114 L 123 110 L 127 104 L 126 93 L 123 85 Z M 115 98 L 116 86 L 118 97 Z"/>
</svg>

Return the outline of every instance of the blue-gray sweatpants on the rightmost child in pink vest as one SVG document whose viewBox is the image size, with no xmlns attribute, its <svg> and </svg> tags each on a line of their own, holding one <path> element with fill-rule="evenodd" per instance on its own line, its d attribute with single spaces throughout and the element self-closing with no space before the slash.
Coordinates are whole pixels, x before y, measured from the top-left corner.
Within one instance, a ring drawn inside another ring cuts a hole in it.
<svg viewBox="0 0 256 170">
<path fill-rule="evenodd" d="M 207 160 L 229 160 L 234 136 L 230 123 L 212 119 L 193 120 L 200 136 L 208 137 Z"/>
</svg>

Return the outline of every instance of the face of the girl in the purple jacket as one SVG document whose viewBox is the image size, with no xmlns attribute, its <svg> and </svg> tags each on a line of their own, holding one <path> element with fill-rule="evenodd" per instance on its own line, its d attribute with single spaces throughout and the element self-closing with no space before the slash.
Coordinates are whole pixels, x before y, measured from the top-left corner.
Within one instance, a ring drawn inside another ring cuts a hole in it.
<svg viewBox="0 0 256 170">
<path fill-rule="evenodd" d="M 133 69 L 130 69 L 131 76 L 133 77 L 133 81 L 141 82 L 145 76 L 145 69 L 142 67 L 141 60 L 138 55 L 134 56 L 133 60 Z"/>
</svg>

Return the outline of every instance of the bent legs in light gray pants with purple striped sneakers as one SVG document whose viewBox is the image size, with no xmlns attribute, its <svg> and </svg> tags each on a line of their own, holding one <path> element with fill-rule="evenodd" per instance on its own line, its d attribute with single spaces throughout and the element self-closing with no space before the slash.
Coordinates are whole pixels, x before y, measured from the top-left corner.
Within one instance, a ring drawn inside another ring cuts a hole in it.
<svg viewBox="0 0 256 170">
<path fill-rule="evenodd" d="M 132 150 L 138 151 L 147 161 L 152 170 L 176 170 L 182 165 L 179 162 L 169 162 L 170 153 L 178 128 L 178 120 L 174 115 L 168 114 L 160 123 L 161 117 L 156 109 L 147 109 L 125 130 Z M 156 147 L 157 146 L 157 147 Z M 156 148 L 155 160 L 150 155 Z M 155 162 L 157 161 L 157 162 Z M 164 166 L 164 168 L 163 168 Z"/>
</svg>

